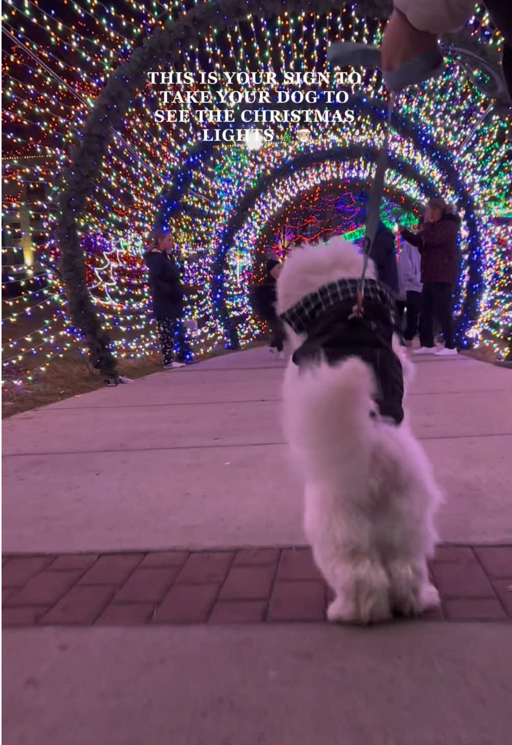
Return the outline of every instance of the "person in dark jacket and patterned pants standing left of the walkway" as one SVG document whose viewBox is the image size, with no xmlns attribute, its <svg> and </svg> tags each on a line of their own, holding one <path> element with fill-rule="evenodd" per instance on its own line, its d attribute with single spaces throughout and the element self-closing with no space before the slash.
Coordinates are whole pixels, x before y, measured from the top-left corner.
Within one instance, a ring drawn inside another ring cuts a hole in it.
<svg viewBox="0 0 512 745">
<path fill-rule="evenodd" d="M 185 353 L 185 337 L 182 331 L 183 285 L 179 265 L 171 252 L 173 250 L 172 233 L 156 230 L 150 250 L 144 253 L 147 268 L 150 270 L 150 294 L 153 303 L 153 315 L 156 317 L 161 355 L 164 358 L 164 370 L 183 367 L 184 361 L 174 358 L 174 346 L 178 342 L 180 355 Z"/>
</svg>

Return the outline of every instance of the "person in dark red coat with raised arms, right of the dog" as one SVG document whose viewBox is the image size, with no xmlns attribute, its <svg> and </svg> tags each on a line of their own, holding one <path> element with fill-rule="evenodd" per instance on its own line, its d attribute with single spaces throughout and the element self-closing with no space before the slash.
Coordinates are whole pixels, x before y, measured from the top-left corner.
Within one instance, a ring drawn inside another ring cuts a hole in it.
<svg viewBox="0 0 512 745">
<path fill-rule="evenodd" d="M 457 237 L 461 218 L 451 212 L 441 197 L 433 197 L 426 208 L 419 232 L 400 227 L 400 235 L 421 255 L 420 349 L 415 354 L 456 355 L 453 340 L 452 295 L 457 282 Z M 435 351 L 434 320 L 444 336 L 444 349 Z"/>
</svg>

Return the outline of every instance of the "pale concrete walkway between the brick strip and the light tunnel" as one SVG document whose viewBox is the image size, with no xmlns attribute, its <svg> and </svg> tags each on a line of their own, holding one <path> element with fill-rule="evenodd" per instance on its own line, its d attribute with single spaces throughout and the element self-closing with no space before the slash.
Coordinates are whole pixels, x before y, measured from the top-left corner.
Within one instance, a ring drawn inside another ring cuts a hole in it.
<svg viewBox="0 0 512 745">
<path fill-rule="evenodd" d="M 408 407 L 447 495 L 441 539 L 512 542 L 512 375 L 415 358 Z M 4 552 L 304 544 L 267 349 L 4 422 Z"/>
</svg>

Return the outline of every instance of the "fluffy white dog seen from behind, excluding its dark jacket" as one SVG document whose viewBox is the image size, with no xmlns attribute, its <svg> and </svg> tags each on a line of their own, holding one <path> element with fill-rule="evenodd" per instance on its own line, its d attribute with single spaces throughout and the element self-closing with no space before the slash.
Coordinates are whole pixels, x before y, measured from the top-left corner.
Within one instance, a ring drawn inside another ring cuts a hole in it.
<svg viewBox="0 0 512 745">
<path fill-rule="evenodd" d="M 343 238 L 298 247 L 278 279 L 278 313 L 361 272 L 362 256 Z M 371 261 L 366 276 L 375 279 Z M 305 335 L 287 331 L 295 350 Z M 396 339 L 393 348 L 406 383 L 412 365 Z M 439 603 L 426 557 L 440 494 L 407 420 L 396 426 L 378 416 L 374 390 L 374 373 L 358 357 L 332 366 L 322 359 L 300 372 L 290 360 L 284 378 L 286 434 L 305 482 L 304 527 L 336 594 L 330 621 L 372 623 Z"/>
</svg>

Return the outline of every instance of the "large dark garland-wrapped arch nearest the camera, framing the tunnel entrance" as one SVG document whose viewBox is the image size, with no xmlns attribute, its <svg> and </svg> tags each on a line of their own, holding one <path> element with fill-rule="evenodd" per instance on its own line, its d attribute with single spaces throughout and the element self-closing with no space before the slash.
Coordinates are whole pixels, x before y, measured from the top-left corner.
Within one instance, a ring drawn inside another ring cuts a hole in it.
<svg viewBox="0 0 512 745">
<path fill-rule="evenodd" d="M 362 16 L 385 19 L 391 3 L 385 1 L 362 1 L 352 4 Z M 117 375 L 115 358 L 112 355 L 109 337 L 103 331 L 86 285 L 86 269 L 83 250 L 77 232 L 77 218 L 83 212 L 86 199 L 92 191 L 100 170 L 112 132 L 121 124 L 136 89 L 144 83 L 148 69 L 161 60 L 178 63 L 180 51 L 193 44 L 199 33 L 208 31 L 212 22 L 220 29 L 228 28 L 234 21 L 246 18 L 252 9 L 271 17 L 283 10 L 289 13 L 307 9 L 314 13 L 327 13 L 333 9 L 332 1 L 325 0 L 261 0 L 257 4 L 246 0 L 221 0 L 208 2 L 181 13 L 176 22 L 170 19 L 164 31 L 155 31 L 152 37 L 142 39 L 133 49 L 126 63 L 121 64 L 109 78 L 97 99 L 92 115 L 86 122 L 80 147 L 74 153 L 71 166 L 65 173 L 65 188 L 60 193 L 60 215 L 57 238 L 60 244 L 62 273 L 71 320 L 86 340 L 89 352 L 97 368 L 108 376 Z M 339 12 L 339 7 L 336 12 Z M 473 253 L 477 247 L 472 249 Z M 217 281 L 219 276 L 215 277 Z M 222 276 L 220 276 L 222 287 Z M 223 308 L 219 308 L 223 311 Z M 222 313 L 221 313 L 222 314 Z M 229 320 L 224 318 L 228 336 L 235 341 Z"/>
</svg>

